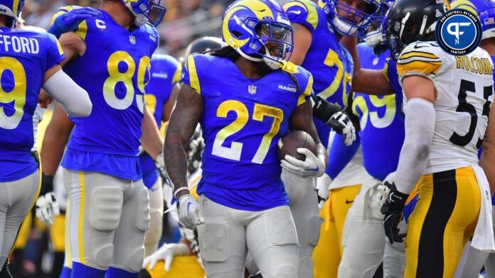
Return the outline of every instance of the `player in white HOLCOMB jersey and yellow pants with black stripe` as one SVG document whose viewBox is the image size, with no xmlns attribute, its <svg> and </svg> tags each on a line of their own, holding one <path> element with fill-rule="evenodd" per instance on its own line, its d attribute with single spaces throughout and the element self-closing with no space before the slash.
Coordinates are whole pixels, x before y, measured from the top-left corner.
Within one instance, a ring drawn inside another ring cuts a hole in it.
<svg viewBox="0 0 495 278">
<path fill-rule="evenodd" d="M 495 182 L 493 62 L 481 48 L 456 57 L 432 41 L 443 10 L 437 1 L 398 0 L 388 17 L 393 52 L 405 46 L 397 68 L 407 104 L 395 183 L 381 212 L 390 243 L 402 241 L 397 225 L 417 183 L 405 277 L 452 277 L 472 236 L 474 248 L 495 249 L 488 183 Z M 471 61 L 482 67 L 474 70 Z"/>
</svg>

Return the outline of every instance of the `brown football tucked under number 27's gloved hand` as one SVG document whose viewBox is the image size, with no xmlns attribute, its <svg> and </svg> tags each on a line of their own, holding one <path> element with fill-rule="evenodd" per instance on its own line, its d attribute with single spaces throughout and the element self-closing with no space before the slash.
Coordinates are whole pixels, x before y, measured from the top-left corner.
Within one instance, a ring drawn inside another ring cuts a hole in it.
<svg viewBox="0 0 495 278">
<path fill-rule="evenodd" d="M 278 142 L 278 157 L 283 160 L 285 155 L 292 155 L 297 160 L 306 159 L 305 155 L 297 152 L 298 148 L 307 148 L 316 155 L 316 143 L 313 138 L 303 130 L 291 130 Z"/>
</svg>

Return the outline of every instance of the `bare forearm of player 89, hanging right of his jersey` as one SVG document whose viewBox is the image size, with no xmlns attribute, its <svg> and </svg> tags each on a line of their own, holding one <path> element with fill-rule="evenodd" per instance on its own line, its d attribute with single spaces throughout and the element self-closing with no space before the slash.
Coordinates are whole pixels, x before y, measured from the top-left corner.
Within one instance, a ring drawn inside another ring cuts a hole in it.
<svg viewBox="0 0 495 278">
<path fill-rule="evenodd" d="M 144 106 L 144 118 L 142 123 L 141 144 L 148 154 L 156 160 L 161 154 L 164 144 L 161 140 L 160 130 L 154 121 L 151 112 Z"/>
</svg>

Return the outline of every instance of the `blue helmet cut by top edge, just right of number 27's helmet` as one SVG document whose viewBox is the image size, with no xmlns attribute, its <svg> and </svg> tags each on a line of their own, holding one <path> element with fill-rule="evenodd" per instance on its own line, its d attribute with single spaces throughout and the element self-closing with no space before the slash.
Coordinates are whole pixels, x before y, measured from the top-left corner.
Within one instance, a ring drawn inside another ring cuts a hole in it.
<svg viewBox="0 0 495 278">
<path fill-rule="evenodd" d="M 339 0 L 319 0 L 318 5 L 326 13 L 335 30 L 341 35 L 356 37 L 359 33 L 366 31 L 380 6 L 379 0 L 363 1 L 367 4 L 365 11 L 354 9 Z M 339 11 L 343 11 L 345 16 L 340 16 Z"/>
</svg>

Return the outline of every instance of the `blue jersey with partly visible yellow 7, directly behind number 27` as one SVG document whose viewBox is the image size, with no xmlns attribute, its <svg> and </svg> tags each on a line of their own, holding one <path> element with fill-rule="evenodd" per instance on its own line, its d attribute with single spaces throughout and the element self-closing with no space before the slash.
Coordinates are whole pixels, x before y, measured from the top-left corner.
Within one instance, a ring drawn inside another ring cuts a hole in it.
<svg viewBox="0 0 495 278">
<path fill-rule="evenodd" d="M 291 23 L 298 23 L 312 33 L 312 42 L 302 67 L 314 78 L 314 94 L 332 103 L 347 105 L 351 91 L 353 61 L 349 52 L 339 43 L 337 33 L 324 11 L 309 0 L 290 1 L 284 10 Z M 328 145 L 330 128 L 314 119 L 321 143 Z"/>
</svg>

